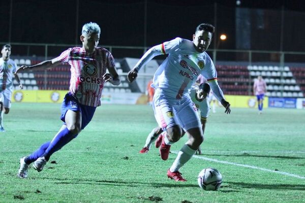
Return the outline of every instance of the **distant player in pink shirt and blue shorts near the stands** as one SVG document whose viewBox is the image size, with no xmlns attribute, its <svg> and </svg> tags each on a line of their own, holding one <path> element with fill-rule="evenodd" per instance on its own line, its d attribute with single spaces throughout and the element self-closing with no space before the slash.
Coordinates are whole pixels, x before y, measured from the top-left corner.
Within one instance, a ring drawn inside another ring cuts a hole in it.
<svg viewBox="0 0 305 203">
<path fill-rule="evenodd" d="M 261 76 L 257 77 L 257 80 L 253 84 L 253 93 L 256 95 L 258 103 L 258 114 L 262 114 L 263 111 L 263 100 L 267 91 L 266 82 Z"/>
</svg>

